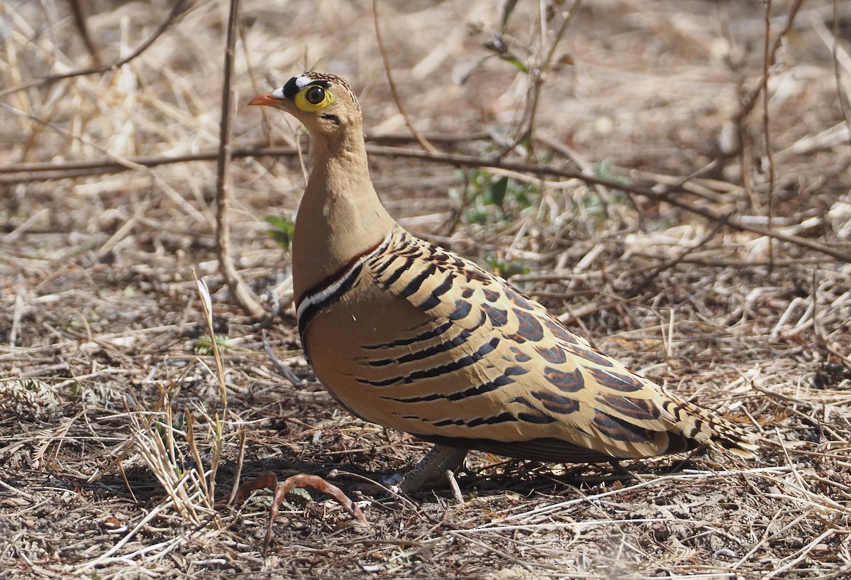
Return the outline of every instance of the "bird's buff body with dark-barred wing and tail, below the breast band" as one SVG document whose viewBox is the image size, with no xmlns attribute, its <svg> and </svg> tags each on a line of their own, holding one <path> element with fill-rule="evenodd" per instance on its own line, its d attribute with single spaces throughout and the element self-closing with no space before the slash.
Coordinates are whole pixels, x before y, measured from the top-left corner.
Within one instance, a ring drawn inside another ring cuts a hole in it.
<svg viewBox="0 0 851 580">
<path fill-rule="evenodd" d="M 303 336 L 320 379 L 351 411 L 423 439 L 545 461 L 752 449 L 744 431 L 626 370 L 505 280 L 401 228 L 316 324 L 342 328 L 348 316 L 374 322 L 334 344 Z"/>
</svg>

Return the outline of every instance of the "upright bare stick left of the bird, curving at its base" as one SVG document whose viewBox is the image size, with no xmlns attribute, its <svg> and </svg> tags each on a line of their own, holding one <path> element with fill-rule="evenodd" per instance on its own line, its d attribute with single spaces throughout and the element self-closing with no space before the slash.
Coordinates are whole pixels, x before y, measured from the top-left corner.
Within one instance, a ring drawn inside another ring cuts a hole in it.
<svg viewBox="0 0 851 580">
<path fill-rule="evenodd" d="M 233 265 L 231 254 L 231 223 L 228 221 L 228 193 L 231 188 L 231 112 L 233 109 L 233 53 L 237 42 L 237 20 L 239 18 L 239 0 L 231 0 L 231 13 L 227 20 L 227 39 L 225 48 L 225 79 L 221 89 L 221 132 L 219 139 L 219 167 L 216 173 L 216 253 L 219 256 L 219 268 L 225 278 L 231 295 L 249 316 L 254 319 L 266 318 L 266 310 L 260 306 L 257 296 L 248 288 L 242 276 Z"/>
</svg>

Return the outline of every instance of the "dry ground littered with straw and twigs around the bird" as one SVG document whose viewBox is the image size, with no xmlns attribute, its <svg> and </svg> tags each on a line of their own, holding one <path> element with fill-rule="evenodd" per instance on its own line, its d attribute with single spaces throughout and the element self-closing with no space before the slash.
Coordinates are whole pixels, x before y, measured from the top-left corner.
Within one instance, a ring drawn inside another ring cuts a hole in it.
<svg viewBox="0 0 851 580">
<path fill-rule="evenodd" d="M 228 220 L 281 304 L 262 328 L 216 255 L 230 3 L 0 0 L 0 577 L 851 577 L 851 4 L 512 6 L 380 0 L 379 43 L 366 0 L 243 0 Z M 403 226 L 760 434 L 757 457 L 472 453 L 463 502 L 400 495 L 427 445 L 316 382 L 267 233 L 308 141 L 244 105 L 309 68 L 360 95 Z M 226 505 L 264 471 L 320 475 L 368 523 L 290 494 L 264 554 L 271 492 Z"/>
</svg>

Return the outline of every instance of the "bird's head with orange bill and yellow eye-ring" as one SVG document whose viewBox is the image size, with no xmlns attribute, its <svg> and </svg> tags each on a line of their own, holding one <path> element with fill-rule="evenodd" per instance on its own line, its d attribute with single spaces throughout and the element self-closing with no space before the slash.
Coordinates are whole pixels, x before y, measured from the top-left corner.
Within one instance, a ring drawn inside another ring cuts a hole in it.
<svg viewBox="0 0 851 580">
<path fill-rule="evenodd" d="M 264 105 L 288 112 L 311 135 L 342 135 L 361 124 L 361 106 L 348 83 L 323 72 L 304 72 L 271 93 L 257 95 L 248 105 Z"/>
</svg>

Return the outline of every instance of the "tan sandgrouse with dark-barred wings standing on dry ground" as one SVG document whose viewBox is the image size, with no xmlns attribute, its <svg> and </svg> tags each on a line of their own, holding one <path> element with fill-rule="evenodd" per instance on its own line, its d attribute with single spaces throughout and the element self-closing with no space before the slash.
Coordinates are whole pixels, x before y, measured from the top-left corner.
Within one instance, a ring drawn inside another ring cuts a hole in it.
<svg viewBox="0 0 851 580">
<path fill-rule="evenodd" d="M 353 415 L 431 442 L 402 482 L 434 485 L 470 450 L 539 462 L 752 457 L 754 437 L 627 370 L 494 273 L 416 238 L 380 202 L 343 78 L 304 72 L 248 105 L 304 125 L 313 165 L 292 239 L 298 330 Z"/>
</svg>

